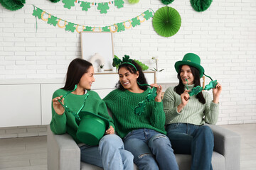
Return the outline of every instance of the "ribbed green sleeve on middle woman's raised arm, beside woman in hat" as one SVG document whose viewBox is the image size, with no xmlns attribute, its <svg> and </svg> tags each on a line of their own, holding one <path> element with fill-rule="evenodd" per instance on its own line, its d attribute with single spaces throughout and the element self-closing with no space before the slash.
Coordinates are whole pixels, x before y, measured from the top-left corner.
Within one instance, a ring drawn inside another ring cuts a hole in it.
<svg viewBox="0 0 256 170">
<path fill-rule="evenodd" d="M 151 125 L 162 130 L 165 125 L 165 119 L 163 103 L 154 101 L 154 107 L 150 116 Z"/>
</svg>

